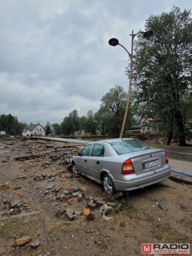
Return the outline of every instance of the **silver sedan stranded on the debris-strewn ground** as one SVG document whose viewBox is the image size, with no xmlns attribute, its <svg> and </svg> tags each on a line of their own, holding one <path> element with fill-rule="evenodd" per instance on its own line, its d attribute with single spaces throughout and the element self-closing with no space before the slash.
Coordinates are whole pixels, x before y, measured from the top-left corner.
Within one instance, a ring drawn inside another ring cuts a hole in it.
<svg viewBox="0 0 192 256">
<path fill-rule="evenodd" d="M 72 166 L 73 172 L 102 184 L 110 196 L 155 184 L 171 173 L 164 150 L 132 138 L 92 141 L 72 157 Z"/>
</svg>

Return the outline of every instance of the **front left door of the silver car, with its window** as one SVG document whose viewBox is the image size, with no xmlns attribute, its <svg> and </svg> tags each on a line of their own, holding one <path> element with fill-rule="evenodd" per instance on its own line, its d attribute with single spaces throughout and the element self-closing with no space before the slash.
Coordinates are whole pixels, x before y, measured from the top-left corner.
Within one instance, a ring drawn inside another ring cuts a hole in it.
<svg viewBox="0 0 192 256">
<path fill-rule="evenodd" d="M 88 144 L 86 145 L 80 153 L 80 156 L 77 157 L 76 163 L 79 170 L 79 173 L 83 175 L 88 175 L 88 159 L 90 155 L 90 150 L 92 149 L 93 145 Z"/>
</svg>

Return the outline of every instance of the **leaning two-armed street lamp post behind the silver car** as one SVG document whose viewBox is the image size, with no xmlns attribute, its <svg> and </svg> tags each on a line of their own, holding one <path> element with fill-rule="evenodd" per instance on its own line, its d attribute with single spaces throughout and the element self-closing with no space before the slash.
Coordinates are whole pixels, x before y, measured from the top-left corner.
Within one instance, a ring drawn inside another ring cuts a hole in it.
<svg viewBox="0 0 192 256">
<path fill-rule="evenodd" d="M 132 84 L 133 40 L 134 40 L 134 37 L 136 35 L 138 35 L 139 33 L 142 33 L 143 37 L 146 38 L 148 36 L 151 36 L 153 34 L 153 31 L 151 31 L 151 30 L 146 31 L 146 32 L 139 31 L 138 33 L 134 34 L 133 30 L 132 30 L 132 34 L 130 35 L 131 36 L 131 53 L 129 51 L 127 51 L 127 49 L 124 47 L 124 45 L 122 45 L 118 42 L 118 39 L 116 39 L 116 38 L 109 39 L 109 45 L 111 45 L 111 46 L 120 45 L 121 47 L 123 47 L 124 50 L 128 53 L 129 58 L 131 60 L 131 63 L 130 63 L 130 77 L 129 77 L 129 91 L 128 91 L 128 97 L 127 97 L 127 104 L 126 104 L 126 108 L 125 108 L 124 120 L 123 120 L 123 123 L 122 123 L 122 128 L 121 128 L 121 131 L 120 131 L 119 138 L 123 138 L 123 133 L 124 133 L 124 129 L 125 129 L 125 122 L 126 122 L 127 114 L 128 114 L 128 111 L 129 111 L 129 102 L 130 102 L 130 99 L 131 99 L 131 84 Z"/>
</svg>

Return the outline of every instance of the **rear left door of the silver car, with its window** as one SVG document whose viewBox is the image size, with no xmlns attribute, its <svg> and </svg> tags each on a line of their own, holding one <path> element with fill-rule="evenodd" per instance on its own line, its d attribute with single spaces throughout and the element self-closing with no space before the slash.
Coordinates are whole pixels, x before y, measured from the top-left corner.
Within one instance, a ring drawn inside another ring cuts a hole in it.
<svg viewBox="0 0 192 256">
<path fill-rule="evenodd" d="M 102 143 L 94 143 L 90 156 L 88 158 L 88 176 L 93 180 L 100 179 L 100 170 L 102 169 L 102 161 L 104 158 L 104 145 Z"/>
</svg>

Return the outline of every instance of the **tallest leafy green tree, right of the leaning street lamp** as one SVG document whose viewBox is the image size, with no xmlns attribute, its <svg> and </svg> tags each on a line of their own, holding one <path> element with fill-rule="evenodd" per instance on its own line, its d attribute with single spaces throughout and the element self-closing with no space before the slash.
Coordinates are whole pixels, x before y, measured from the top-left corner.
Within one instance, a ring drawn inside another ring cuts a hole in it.
<svg viewBox="0 0 192 256">
<path fill-rule="evenodd" d="M 154 36 L 139 37 L 134 53 L 134 97 L 140 115 L 164 122 L 168 144 L 176 125 L 179 145 L 185 145 L 186 115 L 191 108 L 191 10 L 150 16 L 145 25 Z"/>
</svg>

